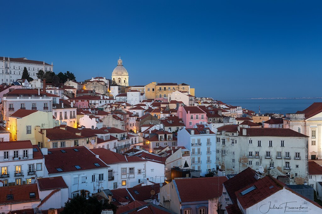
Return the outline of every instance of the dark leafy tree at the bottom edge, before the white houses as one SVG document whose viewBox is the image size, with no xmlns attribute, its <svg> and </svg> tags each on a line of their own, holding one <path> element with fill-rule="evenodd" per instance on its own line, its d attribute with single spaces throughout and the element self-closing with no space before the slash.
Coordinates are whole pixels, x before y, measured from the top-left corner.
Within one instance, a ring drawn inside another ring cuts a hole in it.
<svg viewBox="0 0 322 214">
<path fill-rule="evenodd" d="M 62 214 L 96 214 L 101 213 L 103 209 L 112 209 L 113 213 L 116 213 L 117 207 L 108 200 L 99 201 L 95 197 L 85 198 L 81 191 L 81 194 L 76 195 L 70 201 L 65 203 Z"/>
</svg>

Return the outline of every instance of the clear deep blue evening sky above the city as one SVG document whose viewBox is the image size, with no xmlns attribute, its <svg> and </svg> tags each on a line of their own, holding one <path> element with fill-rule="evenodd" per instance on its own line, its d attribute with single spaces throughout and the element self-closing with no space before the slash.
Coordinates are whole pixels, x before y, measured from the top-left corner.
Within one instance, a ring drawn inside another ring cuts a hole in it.
<svg viewBox="0 0 322 214">
<path fill-rule="evenodd" d="M 78 81 L 188 83 L 213 98 L 321 97 L 322 1 L 3 1 L 1 56 Z M 5 29 L 5 31 L 4 31 Z"/>
</svg>

